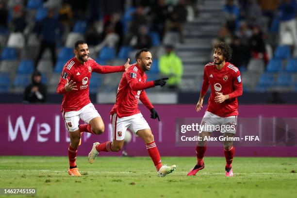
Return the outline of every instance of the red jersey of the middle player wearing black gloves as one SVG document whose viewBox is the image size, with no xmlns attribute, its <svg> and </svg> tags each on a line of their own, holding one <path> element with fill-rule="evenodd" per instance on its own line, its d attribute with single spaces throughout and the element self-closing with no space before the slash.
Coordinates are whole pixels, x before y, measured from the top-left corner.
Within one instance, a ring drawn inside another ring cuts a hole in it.
<svg viewBox="0 0 297 198">
<path fill-rule="evenodd" d="M 129 67 L 118 85 L 115 105 L 110 114 L 116 113 L 118 117 L 127 117 L 140 113 L 138 99 L 148 109 L 154 108 L 143 90 L 154 86 L 154 82 L 147 82 L 147 79 L 147 75 L 137 64 Z"/>
</svg>

